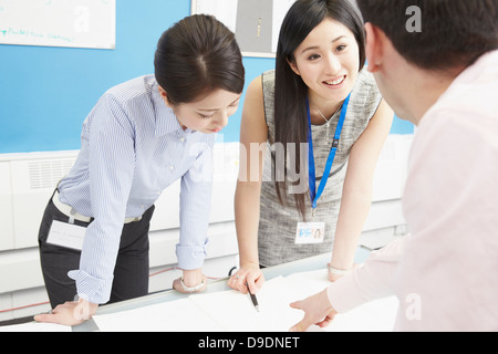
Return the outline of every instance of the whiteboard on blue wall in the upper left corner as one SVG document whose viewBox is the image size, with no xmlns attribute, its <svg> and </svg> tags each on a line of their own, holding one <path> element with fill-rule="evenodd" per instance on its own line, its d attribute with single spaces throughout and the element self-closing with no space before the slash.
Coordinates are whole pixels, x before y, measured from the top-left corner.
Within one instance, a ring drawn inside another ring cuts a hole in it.
<svg viewBox="0 0 498 354">
<path fill-rule="evenodd" d="M 0 0 L 0 44 L 114 49 L 115 0 Z"/>
</svg>

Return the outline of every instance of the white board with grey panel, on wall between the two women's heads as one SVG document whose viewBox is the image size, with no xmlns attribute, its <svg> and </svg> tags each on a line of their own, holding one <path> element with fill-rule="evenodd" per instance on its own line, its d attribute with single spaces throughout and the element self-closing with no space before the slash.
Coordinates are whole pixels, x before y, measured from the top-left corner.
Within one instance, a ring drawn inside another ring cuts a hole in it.
<svg viewBox="0 0 498 354">
<path fill-rule="evenodd" d="M 235 34 L 245 56 L 274 58 L 280 27 L 295 0 L 193 0 L 191 13 L 212 14 Z"/>
</svg>

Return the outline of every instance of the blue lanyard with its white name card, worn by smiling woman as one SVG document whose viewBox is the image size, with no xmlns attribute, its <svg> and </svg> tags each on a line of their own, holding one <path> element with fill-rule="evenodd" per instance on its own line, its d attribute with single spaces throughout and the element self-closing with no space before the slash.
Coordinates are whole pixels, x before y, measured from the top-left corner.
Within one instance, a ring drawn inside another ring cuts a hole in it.
<svg viewBox="0 0 498 354">
<path fill-rule="evenodd" d="M 310 113 L 310 103 L 307 98 L 307 113 L 308 113 L 308 162 L 309 162 L 309 185 L 310 185 L 310 198 L 311 198 L 311 208 L 312 208 L 312 217 L 313 222 L 298 222 L 298 229 L 295 231 L 295 243 L 320 243 L 324 239 L 325 235 L 325 222 L 314 222 L 314 218 L 317 215 L 317 202 L 320 199 L 323 190 L 325 189 L 326 181 L 329 180 L 330 171 L 332 169 L 332 165 L 335 159 L 335 153 L 339 147 L 339 139 L 341 138 L 342 126 L 344 125 L 344 119 L 347 113 L 347 105 L 350 103 L 351 93 L 344 100 L 341 108 L 341 116 L 339 117 L 339 123 L 335 128 L 334 139 L 332 142 L 332 147 L 329 153 L 329 157 L 326 159 L 325 169 L 322 175 L 322 179 L 320 180 L 319 188 L 317 190 L 317 171 L 314 165 L 314 155 L 313 155 L 313 138 L 311 134 L 311 113 Z M 311 235 L 320 235 L 321 237 L 310 237 Z"/>
</svg>

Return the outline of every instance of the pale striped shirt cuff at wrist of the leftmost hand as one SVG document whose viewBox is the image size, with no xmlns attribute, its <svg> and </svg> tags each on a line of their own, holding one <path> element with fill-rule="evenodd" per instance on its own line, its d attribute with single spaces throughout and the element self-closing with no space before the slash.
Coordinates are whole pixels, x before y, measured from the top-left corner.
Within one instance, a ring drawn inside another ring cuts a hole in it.
<svg viewBox="0 0 498 354">
<path fill-rule="evenodd" d="M 76 281 L 76 290 L 80 299 L 97 304 L 106 303 L 111 299 L 114 277 L 102 280 L 82 270 L 72 270 L 68 275 Z"/>
</svg>

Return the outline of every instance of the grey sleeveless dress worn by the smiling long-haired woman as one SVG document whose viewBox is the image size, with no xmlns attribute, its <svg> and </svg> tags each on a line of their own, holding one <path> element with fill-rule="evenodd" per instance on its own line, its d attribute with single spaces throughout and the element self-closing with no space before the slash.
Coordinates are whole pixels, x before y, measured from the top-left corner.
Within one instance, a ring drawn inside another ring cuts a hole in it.
<svg viewBox="0 0 498 354">
<path fill-rule="evenodd" d="M 281 206 L 274 188 L 274 70 L 262 74 L 264 98 L 264 115 L 268 126 L 268 146 L 264 157 L 263 181 L 260 199 L 260 221 L 258 232 L 258 248 L 260 264 L 276 266 L 298 259 L 328 253 L 332 251 L 339 208 L 342 197 L 342 187 L 347 169 L 347 159 L 351 148 L 366 128 L 375 114 L 382 96 L 371 73 L 363 69 L 351 94 L 347 114 L 343 125 L 341 139 L 332 165 L 330 178 L 322 196 L 318 200 L 315 221 L 325 222 L 324 241 L 318 244 L 295 244 L 295 230 L 298 222 L 304 221 L 295 207 L 292 196 L 288 197 L 286 207 Z M 333 135 L 341 110 L 330 122 L 330 133 Z M 303 117 L 305 118 L 305 117 Z M 326 143 L 326 126 L 312 125 L 313 154 L 317 171 L 317 188 L 320 185 L 325 163 L 332 145 L 332 138 Z M 272 176 L 273 171 L 273 176 Z M 311 219 L 311 200 L 308 187 L 308 169 L 305 174 L 307 218 Z M 309 216 L 309 217 L 308 217 Z M 307 220 L 310 221 L 310 220 Z"/>
</svg>

